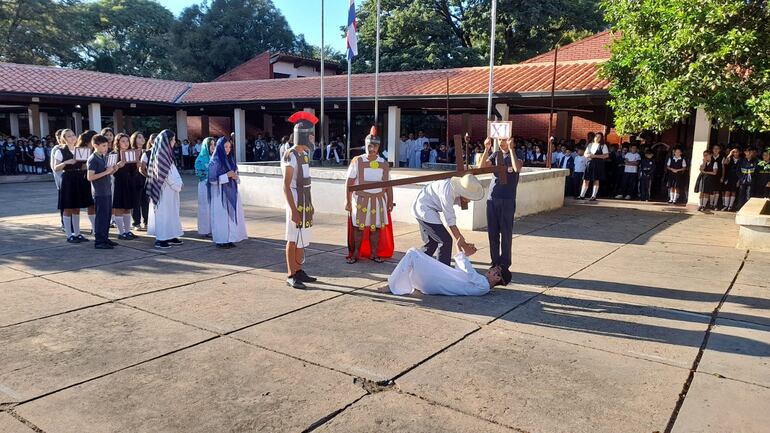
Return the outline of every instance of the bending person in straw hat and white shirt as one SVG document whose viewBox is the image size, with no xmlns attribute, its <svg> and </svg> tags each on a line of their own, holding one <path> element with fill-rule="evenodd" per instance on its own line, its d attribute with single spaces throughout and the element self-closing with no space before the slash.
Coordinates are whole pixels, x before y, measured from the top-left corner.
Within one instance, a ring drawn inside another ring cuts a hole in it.
<svg viewBox="0 0 770 433">
<path fill-rule="evenodd" d="M 438 250 L 438 261 L 449 266 L 452 261 L 454 237 L 457 247 L 466 255 L 476 252 L 476 247 L 466 242 L 457 228 L 454 206 L 465 206 L 470 201 L 481 200 L 484 195 L 484 186 L 472 174 L 437 180 L 423 187 L 412 205 L 412 216 L 420 225 L 420 234 L 425 243 L 422 251 L 433 256 Z M 439 213 L 444 215 L 451 235 L 444 227 Z"/>
</svg>

